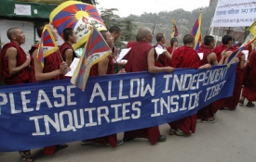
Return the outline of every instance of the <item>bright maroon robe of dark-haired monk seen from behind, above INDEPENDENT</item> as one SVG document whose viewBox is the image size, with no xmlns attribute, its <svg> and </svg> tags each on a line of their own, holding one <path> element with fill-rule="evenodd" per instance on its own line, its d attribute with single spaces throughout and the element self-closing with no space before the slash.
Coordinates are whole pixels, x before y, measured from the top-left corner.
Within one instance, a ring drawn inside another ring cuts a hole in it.
<svg viewBox="0 0 256 162">
<path fill-rule="evenodd" d="M 189 46 L 181 46 L 173 52 L 171 65 L 173 68 L 189 68 L 197 69 L 200 67 L 200 58 L 195 50 Z M 190 131 L 195 133 L 196 114 L 187 118 L 182 118 L 168 123 L 171 129 L 180 129 L 185 134 L 190 134 Z"/>
</svg>

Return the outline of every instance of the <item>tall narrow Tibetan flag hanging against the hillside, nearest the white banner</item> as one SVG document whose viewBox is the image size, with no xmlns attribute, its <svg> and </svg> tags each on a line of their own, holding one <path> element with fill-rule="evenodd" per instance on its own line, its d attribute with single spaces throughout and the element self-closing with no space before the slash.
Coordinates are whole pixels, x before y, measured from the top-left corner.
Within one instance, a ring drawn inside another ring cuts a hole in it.
<svg viewBox="0 0 256 162">
<path fill-rule="evenodd" d="M 198 50 L 201 44 L 201 20 L 202 20 L 202 12 L 200 12 L 198 19 L 195 21 L 195 25 L 191 31 L 191 35 L 195 37 L 195 50 Z"/>
</svg>

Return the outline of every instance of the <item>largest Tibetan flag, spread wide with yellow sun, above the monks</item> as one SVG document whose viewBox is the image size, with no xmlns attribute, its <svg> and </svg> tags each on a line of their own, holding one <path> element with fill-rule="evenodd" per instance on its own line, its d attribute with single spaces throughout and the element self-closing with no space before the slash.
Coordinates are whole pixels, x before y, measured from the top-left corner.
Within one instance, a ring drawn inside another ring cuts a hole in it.
<svg viewBox="0 0 256 162">
<path fill-rule="evenodd" d="M 106 30 L 95 6 L 78 1 L 67 1 L 57 6 L 49 15 L 49 20 L 63 39 L 63 31 L 72 28 L 77 36 L 74 50 L 85 44 L 89 31 L 94 25 L 99 31 Z"/>
</svg>

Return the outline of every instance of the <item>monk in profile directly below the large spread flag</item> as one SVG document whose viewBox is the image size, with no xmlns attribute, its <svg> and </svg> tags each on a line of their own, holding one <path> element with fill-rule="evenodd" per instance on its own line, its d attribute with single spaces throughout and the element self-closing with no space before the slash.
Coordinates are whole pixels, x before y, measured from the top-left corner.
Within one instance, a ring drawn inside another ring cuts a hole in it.
<svg viewBox="0 0 256 162">
<path fill-rule="evenodd" d="M 63 31 L 63 38 L 65 42 L 64 44 L 61 44 L 60 52 L 63 60 L 70 67 L 72 61 L 74 60 L 74 57 L 77 57 L 72 47 L 72 45 L 76 43 L 77 36 L 75 35 L 74 30 L 72 28 L 66 28 Z"/>
</svg>

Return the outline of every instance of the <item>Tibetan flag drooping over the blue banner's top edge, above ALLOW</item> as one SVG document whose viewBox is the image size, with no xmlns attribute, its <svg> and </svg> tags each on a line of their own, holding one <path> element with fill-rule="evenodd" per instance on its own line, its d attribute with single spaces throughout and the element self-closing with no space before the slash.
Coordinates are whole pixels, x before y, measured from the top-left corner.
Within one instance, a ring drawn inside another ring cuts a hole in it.
<svg viewBox="0 0 256 162">
<path fill-rule="evenodd" d="M 109 56 L 111 53 L 112 51 L 101 36 L 101 33 L 96 29 L 96 27 L 92 27 L 92 30 L 88 35 L 88 42 L 82 56 L 80 57 L 79 63 L 74 70 L 71 82 L 76 87 L 84 91 L 86 89 L 91 67 L 100 62 L 106 56 Z"/>
</svg>

